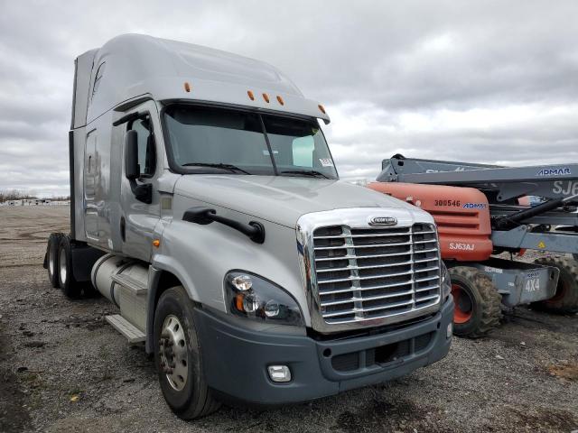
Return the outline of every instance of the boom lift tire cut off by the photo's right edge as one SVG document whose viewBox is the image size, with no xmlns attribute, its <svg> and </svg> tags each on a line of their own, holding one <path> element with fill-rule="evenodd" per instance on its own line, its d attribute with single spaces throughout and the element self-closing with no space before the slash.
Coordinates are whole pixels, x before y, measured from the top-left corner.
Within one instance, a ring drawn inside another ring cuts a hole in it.
<svg viewBox="0 0 578 433">
<path fill-rule="evenodd" d="M 534 263 L 558 268 L 560 277 L 554 297 L 534 302 L 532 307 L 551 313 L 578 312 L 578 263 L 570 257 L 540 257 Z"/>
</svg>

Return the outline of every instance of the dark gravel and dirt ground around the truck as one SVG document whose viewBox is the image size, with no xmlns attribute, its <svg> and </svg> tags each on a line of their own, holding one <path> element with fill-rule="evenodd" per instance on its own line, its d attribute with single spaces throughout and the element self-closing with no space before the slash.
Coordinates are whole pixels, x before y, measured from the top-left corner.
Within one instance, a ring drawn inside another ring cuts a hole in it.
<svg viewBox="0 0 578 433">
<path fill-rule="evenodd" d="M 578 429 L 578 317 L 518 309 L 492 336 L 395 382 L 266 411 L 183 422 L 153 363 L 42 268 L 69 207 L 0 207 L 0 431 L 560 431 Z"/>
</svg>

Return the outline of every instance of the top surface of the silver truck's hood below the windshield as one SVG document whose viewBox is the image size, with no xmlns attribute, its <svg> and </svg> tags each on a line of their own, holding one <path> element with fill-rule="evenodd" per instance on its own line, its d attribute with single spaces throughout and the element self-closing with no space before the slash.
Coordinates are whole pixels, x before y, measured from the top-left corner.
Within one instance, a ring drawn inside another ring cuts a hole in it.
<svg viewBox="0 0 578 433">
<path fill-rule="evenodd" d="M 291 228 L 304 214 L 348 207 L 406 209 L 431 219 L 401 200 L 341 180 L 196 174 L 182 176 L 174 192 Z"/>
</svg>

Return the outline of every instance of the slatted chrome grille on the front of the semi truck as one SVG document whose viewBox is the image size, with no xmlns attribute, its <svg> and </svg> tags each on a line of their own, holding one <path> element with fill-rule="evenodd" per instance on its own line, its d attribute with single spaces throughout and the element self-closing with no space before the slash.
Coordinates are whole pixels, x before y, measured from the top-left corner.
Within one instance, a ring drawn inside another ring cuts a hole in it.
<svg viewBox="0 0 578 433">
<path fill-rule="evenodd" d="M 403 316 L 440 301 L 433 225 L 323 226 L 313 232 L 313 256 L 327 324 Z"/>
</svg>

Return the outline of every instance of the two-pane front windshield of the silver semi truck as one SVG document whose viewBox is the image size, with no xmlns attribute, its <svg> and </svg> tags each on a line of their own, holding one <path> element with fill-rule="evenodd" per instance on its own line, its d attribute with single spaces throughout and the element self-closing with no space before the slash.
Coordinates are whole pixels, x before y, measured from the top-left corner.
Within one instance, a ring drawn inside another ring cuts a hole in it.
<svg viewBox="0 0 578 433">
<path fill-rule="evenodd" d="M 179 171 L 337 179 L 316 120 L 187 105 L 164 120 Z"/>
</svg>

